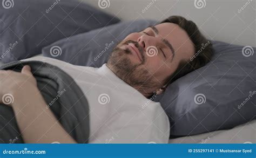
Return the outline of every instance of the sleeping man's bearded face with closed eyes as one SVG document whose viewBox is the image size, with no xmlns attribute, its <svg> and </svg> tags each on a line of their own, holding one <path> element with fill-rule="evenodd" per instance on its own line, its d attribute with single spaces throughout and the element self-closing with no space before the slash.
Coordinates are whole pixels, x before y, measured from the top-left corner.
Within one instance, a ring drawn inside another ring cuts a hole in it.
<svg viewBox="0 0 256 158">
<path fill-rule="evenodd" d="M 187 33 L 162 23 L 128 35 L 113 50 L 107 66 L 145 96 L 163 87 L 181 60 L 189 60 L 194 46 Z"/>
</svg>

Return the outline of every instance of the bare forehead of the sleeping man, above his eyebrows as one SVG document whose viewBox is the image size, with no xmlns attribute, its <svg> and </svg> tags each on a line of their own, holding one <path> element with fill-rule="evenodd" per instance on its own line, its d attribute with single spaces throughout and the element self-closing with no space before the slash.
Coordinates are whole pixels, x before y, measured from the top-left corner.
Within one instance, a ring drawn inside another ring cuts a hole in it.
<svg viewBox="0 0 256 158">
<path fill-rule="evenodd" d="M 158 30 L 158 36 L 168 40 L 172 44 L 176 54 L 193 55 L 194 45 L 186 31 L 180 28 L 179 25 L 174 23 L 161 23 L 155 27 Z"/>
</svg>

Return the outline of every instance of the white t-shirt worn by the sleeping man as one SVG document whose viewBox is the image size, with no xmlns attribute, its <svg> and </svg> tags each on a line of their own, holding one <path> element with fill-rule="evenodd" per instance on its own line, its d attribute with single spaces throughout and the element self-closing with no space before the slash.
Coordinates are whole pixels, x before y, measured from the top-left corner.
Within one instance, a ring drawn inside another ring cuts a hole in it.
<svg viewBox="0 0 256 158">
<path fill-rule="evenodd" d="M 168 143 L 169 119 L 154 102 L 117 77 L 104 64 L 100 68 L 33 57 L 58 66 L 81 88 L 89 103 L 89 143 Z"/>
</svg>

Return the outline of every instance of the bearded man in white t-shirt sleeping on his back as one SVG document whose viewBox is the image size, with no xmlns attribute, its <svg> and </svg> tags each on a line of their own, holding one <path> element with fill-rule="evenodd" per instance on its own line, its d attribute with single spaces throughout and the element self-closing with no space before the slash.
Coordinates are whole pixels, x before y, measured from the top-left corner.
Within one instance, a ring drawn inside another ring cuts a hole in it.
<svg viewBox="0 0 256 158">
<path fill-rule="evenodd" d="M 212 57 L 211 45 L 197 53 L 205 43 L 207 39 L 196 24 L 171 16 L 158 25 L 128 35 L 100 68 L 46 57 L 23 61 L 43 61 L 73 78 L 89 104 L 90 143 L 167 143 L 168 116 L 159 102 L 149 98 L 208 63 Z M 25 143 L 78 142 L 66 132 L 51 109 L 45 108 L 49 103 L 38 90 L 29 65 L 21 72 L 0 71 L 0 98 L 5 94 L 14 98 L 9 106 L 18 125 L 17 137 L 9 139 L 21 138 Z M 9 143 L 1 136 L 0 131 L 0 142 Z"/>
</svg>

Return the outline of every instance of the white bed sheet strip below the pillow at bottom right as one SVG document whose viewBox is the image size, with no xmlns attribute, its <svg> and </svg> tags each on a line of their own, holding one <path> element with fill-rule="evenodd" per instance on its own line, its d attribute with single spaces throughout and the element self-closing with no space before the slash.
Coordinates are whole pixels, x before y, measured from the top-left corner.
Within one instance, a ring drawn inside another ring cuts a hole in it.
<svg viewBox="0 0 256 158">
<path fill-rule="evenodd" d="M 256 120 L 228 130 L 170 139 L 169 143 L 256 143 Z"/>
</svg>

